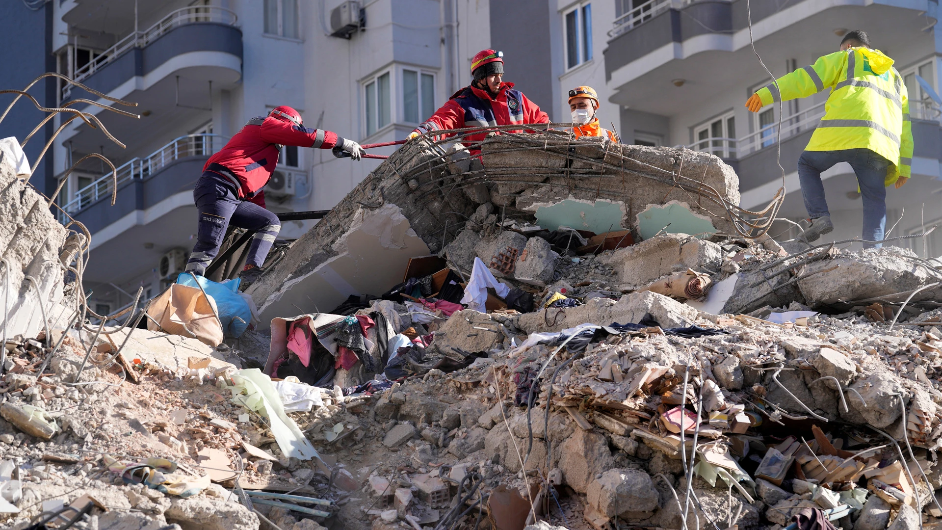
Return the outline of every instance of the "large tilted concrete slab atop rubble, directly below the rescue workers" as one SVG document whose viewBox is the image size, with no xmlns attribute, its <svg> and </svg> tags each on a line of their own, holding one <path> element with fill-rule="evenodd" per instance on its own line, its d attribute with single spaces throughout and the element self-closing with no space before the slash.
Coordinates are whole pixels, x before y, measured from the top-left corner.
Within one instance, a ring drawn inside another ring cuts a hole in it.
<svg viewBox="0 0 942 530">
<path fill-rule="evenodd" d="M 382 294 L 402 281 L 408 257 L 443 249 L 454 268 L 469 273 L 474 257 L 490 264 L 500 251 L 511 247 L 517 253 L 511 263 L 517 259 L 522 265 L 521 281 L 538 287 L 549 283 L 555 257 L 548 248 L 531 249 L 537 259 L 528 263 L 521 256 L 525 251 L 530 254 L 526 237 L 482 231 L 482 226 L 506 218 L 536 223 L 535 214 L 540 213 L 542 219 L 561 225 L 567 215 L 577 219 L 566 222 L 582 219 L 579 213 L 573 214 L 576 210 L 584 214 L 585 207 L 602 206 L 598 219 L 586 217 L 583 221 L 588 224 L 577 227 L 603 232 L 628 228 L 637 233 L 636 215 L 649 205 L 684 201 L 697 219 L 735 233 L 719 202 L 739 203 L 738 178 L 720 158 L 706 153 L 568 141 L 557 132 L 497 135 L 483 141 L 481 150 L 483 173 L 447 159 L 437 145 L 422 141 L 403 145 L 249 288 L 262 313 L 262 325 L 273 316 L 329 311 L 349 294 Z M 682 174 L 696 174 L 696 179 L 687 180 Z M 690 200 L 690 190 L 701 182 L 716 190 L 715 200 Z M 479 185 L 489 190 L 493 201 L 481 203 L 485 197 Z M 470 187 L 478 188 L 465 192 Z M 555 207 L 560 204 L 563 207 Z M 573 204 L 580 206 L 565 207 Z M 607 221 L 607 226 L 599 228 Z M 380 227 L 386 224 L 394 228 L 383 232 Z M 354 244 L 354 240 L 364 244 Z M 684 251 L 674 251 L 671 259 L 683 254 L 690 261 L 684 268 L 696 260 L 700 260 L 697 265 L 717 261 L 718 251 L 710 244 L 685 242 Z M 705 259 L 705 253 L 710 257 Z M 663 268 L 671 269 L 664 273 L 673 272 L 673 262 Z M 623 283 L 638 279 L 624 275 Z M 663 275 L 659 269 L 649 274 L 651 280 L 659 275 Z"/>
</svg>

